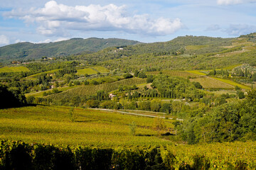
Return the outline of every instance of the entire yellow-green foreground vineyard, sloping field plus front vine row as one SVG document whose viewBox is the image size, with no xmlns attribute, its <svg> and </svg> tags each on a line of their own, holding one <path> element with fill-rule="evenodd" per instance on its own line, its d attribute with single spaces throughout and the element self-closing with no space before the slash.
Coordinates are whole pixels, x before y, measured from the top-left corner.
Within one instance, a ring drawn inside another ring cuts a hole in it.
<svg viewBox="0 0 256 170">
<path fill-rule="evenodd" d="M 82 108 L 75 108 L 74 114 L 71 121 L 70 107 L 60 106 L 0 110 L 0 169 L 24 166 L 15 154 L 27 166 L 44 169 L 60 165 L 69 169 L 256 168 L 256 142 L 174 144 L 174 135 L 163 135 L 174 128 L 173 120 L 162 119 L 166 128 L 159 131 L 155 118 Z M 136 123 L 135 135 L 132 123 Z"/>
</svg>

